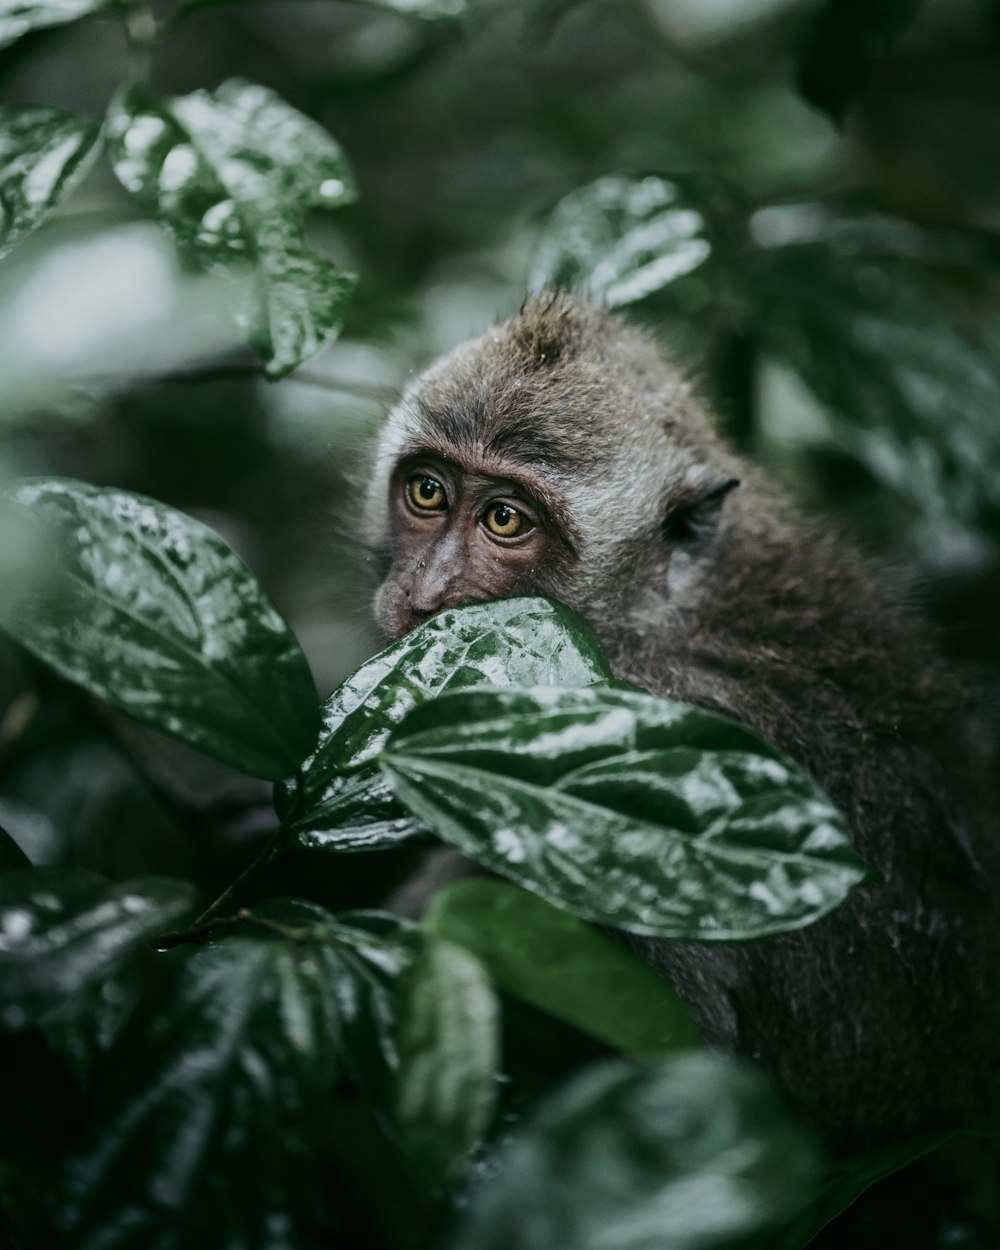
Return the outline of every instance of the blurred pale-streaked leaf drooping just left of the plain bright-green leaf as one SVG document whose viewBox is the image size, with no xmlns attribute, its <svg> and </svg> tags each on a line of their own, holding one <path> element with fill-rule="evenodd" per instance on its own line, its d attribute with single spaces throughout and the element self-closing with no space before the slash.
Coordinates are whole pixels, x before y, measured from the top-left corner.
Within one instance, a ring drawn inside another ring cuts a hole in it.
<svg viewBox="0 0 1000 1250">
<path fill-rule="evenodd" d="M 498 1005 L 465 951 L 379 912 L 330 926 L 344 1059 L 428 1192 L 465 1164 L 496 1101 Z"/>
</svg>

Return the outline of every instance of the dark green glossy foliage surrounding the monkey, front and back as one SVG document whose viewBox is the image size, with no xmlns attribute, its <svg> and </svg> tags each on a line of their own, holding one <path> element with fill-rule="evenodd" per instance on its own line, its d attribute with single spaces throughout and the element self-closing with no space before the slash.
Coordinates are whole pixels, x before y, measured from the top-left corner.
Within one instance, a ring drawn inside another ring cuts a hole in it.
<svg viewBox="0 0 1000 1250">
<path fill-rule="evenodd" d="M 871 888 L 811 781 L 559 605 L 369 658 L 328 530 L 414 364 L 568 284 L 994 681 L 988 9 L 0 0 L 4 1245 L 795 1250 L 940 1145 L 824 1161 L 592 924 Z M 440 841 L 495 876 L 414 924 Z"/>
</svg>

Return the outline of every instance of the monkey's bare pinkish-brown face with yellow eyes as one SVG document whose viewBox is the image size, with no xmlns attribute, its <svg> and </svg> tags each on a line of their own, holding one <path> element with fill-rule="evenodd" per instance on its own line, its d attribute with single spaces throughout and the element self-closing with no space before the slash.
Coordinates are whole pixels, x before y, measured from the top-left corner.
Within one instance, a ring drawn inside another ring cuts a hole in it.
<svg viewBox="0 0 1000 1250">
<path fill-rule="evenodd" d="M 375 596 L 385 632 L 400 638 L 446 608 L 551 590 L 550 570 L 572 552 L 546 494 L 529 472 L 489 459 L 404 455 L 389 481 L 391 562 Z"/>
</svg>

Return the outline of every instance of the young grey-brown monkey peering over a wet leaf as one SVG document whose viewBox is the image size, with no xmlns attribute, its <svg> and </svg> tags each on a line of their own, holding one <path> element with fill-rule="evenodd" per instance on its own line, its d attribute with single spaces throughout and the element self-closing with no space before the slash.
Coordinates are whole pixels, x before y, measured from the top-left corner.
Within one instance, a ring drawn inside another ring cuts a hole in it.
<svg viewBox="0 0 1000 1250">
<path fill-rule="evenodd" d="M 646 331 L 530 299 L 416 378 L 378 438 L 379 625 L 396 639 L 446 608 L 549 596 L 616 676 L 800 764 L 881 885 L 779 938 L 622 936 L 834 1151 L 968 1125 L 998 1036 L 990 742 L 886 576 L 718 424 Z"/>
</svg>

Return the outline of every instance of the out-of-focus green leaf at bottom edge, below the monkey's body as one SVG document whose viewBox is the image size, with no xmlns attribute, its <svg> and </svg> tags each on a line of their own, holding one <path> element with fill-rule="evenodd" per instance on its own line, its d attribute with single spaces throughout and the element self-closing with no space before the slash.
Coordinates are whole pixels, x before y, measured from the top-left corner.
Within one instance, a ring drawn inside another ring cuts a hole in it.
<svg viewBox="0 0 1000 1250">
<path fill-rule="evenodd" d="M 709 1055 L 590 1069 L 501 1152 L 451 1250 L 711 1250 L 792 1216 L 816 1148 L 755 1072 Z"/>
</svg>

